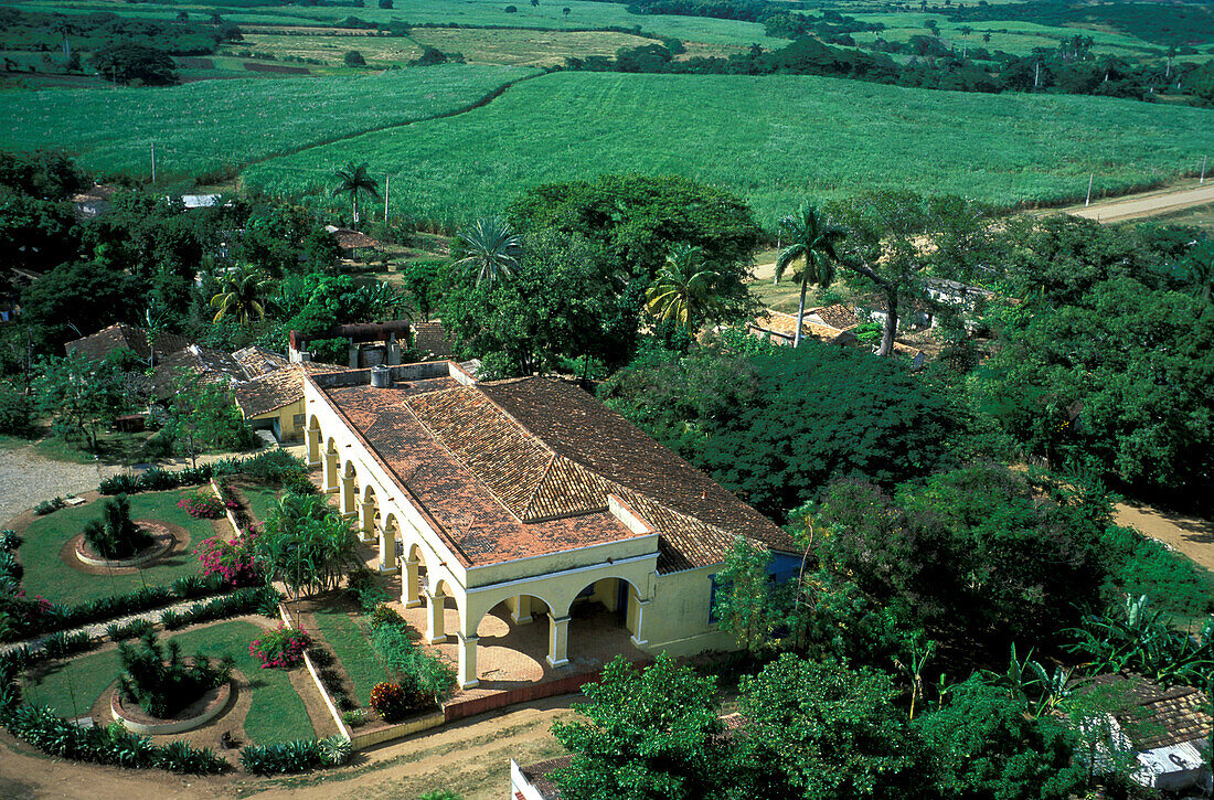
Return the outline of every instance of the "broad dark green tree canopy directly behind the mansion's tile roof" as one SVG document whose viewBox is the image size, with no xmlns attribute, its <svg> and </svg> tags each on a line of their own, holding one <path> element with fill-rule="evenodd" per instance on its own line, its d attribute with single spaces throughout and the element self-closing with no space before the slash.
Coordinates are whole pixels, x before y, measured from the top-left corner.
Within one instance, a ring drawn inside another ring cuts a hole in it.
<svg viewBox="0 0 1214 800">
<path fill-rule="evenodd" d="M 946 459 L 958 412 L 900 363 L 813 341 L 759 350 L 642 356 L 601 396 L 776 518 L 832 478 L 892 486 Z"/>
</svg>

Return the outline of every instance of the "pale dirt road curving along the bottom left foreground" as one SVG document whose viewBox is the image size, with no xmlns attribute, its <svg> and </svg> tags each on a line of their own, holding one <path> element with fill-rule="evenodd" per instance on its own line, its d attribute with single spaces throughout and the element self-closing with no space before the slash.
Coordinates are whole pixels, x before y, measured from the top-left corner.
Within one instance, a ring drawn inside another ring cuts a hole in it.
<svg viewBox="0 0 1214 800">
<path fill-rule="evenodd" d="M 450 789 L 467 800 L 498 800 L 510 785 L 511 758 L 534 764 L 563 754 L 550 728 L 571 714 L 574 699 L 516 705 L 359 753 L 353 764 L 340 770 L 287 778 L 244 773 L 195 778 L 66 762 L 33 753 L 5 733 L 0 736 L 0 798 L 413 800 L 425 792 Z"/>
</svg>

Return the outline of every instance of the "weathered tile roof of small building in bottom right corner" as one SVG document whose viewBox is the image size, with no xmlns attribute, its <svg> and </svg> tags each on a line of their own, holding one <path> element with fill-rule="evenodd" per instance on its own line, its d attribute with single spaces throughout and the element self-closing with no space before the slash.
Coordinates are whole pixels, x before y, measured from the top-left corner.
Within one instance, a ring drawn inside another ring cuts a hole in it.
<svg viewBox="0 0 1214 800">
<path fill-rule="evenodd" d="M 1134 747 L 1140 750 L 1208 739 L 1212 720 L 1204 710 L 1206 694 L 1191 686 L 1163 688 L 1141 675 L 1099 675 L 1093 683 L 1124 685 L 1141 711 L 1134 715 Z"/>
</svg>

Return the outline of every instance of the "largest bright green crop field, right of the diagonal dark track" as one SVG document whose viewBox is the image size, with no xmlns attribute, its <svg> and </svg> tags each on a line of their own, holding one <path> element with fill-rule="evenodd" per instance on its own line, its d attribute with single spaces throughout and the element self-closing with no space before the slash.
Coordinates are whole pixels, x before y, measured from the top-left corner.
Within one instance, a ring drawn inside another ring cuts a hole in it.
<svg viewBox="0 0 1214 800">
<path fill-rule="evenodd" d="M 456 117 L 257 164 L 248 186 L 320 193 L 367 160 L 398 212 L 460 223 L 537 183 L 603 171 L 724 186 L 772 225 L 804 198 L 874 188 L 1014 206 L 1148 186 L 1214 153 L 1214 112 L 1057 95 L 977 95 L 778 75 L 554 73 Z M 328 202 L 328 199 L 312 198 Z"/>
</svg>

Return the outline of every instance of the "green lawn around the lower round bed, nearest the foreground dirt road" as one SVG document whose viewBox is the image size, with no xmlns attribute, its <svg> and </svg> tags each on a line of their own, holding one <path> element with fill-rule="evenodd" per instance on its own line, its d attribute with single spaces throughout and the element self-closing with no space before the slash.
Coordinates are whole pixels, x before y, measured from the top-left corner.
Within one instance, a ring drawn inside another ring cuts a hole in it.
<svg viewBox="0 0 1214 800">
<path fill-rule="evenodd" d="M 244 732 L 256 744 L 274 744 L 293 739 L 313 738 L 316 731 L 308 719 L 304 700 L 295 693 L 287 673 L 261 669 L 249 654 L 249 642 L 261 629 L 246 622 L 226 622 L 171 636 L 181 643 L 182 656 L 202 652 L 211 658 L 231 654 L 236 668 L 253 687 L 251 705 L 244 720 Z M 161 643 L 168 645 L 163 635 Z M 87 714 L 92 704 L 110 683 L 118 680 L 121 666 L 118 651 L 92 653 L 62 662 L 38 682 L 27 688 L 34 703 L 50 705 L 61 716 Z M 296 668 L 302 669 L 302 668 Z M 75 704 L 73 705 L 73 696 Z"/>
</svg>

